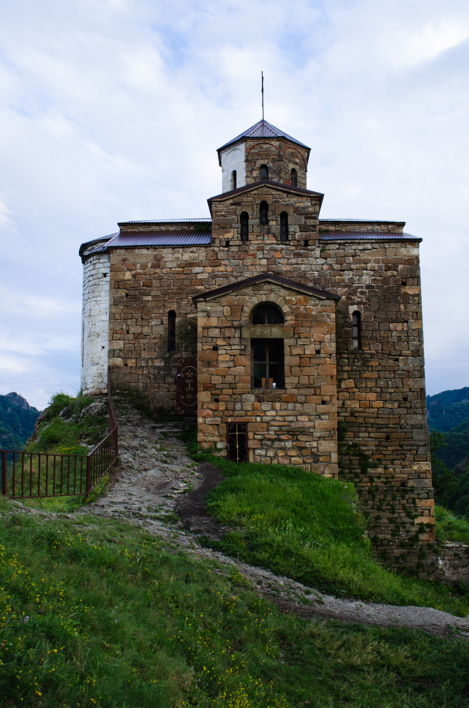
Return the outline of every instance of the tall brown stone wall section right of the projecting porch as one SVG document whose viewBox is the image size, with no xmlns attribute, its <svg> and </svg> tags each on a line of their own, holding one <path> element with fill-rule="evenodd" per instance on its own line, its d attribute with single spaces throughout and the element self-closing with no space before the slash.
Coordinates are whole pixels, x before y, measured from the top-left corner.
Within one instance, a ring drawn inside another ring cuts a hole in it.
<svg viewBox="0 0 469 708">
<path fill-rule="evenodd" d="M 335 282 L 341 295 L 341 474 L 358 486 L 376 552 L 424 576 L 436 559 L 418 244 L 334 242 L 322 249 L 330 269 L 322 285 L 332 289 Z M 355 310 L 362 314 L 361 350 L 351 343 Z"/>
</svg>

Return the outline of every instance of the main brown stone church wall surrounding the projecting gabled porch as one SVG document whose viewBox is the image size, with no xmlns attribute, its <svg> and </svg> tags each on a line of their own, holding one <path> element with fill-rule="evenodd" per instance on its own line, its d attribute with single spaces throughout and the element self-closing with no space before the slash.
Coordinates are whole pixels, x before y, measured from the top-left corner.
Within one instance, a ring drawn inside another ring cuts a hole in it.
<svg viewBox="0 0 469 708">
<path fill-rule="evenodd" d="M 271 219 L 261 227 L 259 202 L 264 198 L 269 200 Z M 174 406 L 175 362 L 182 353 L 193 351 L 196 337 L 189 326 L 191 335 L 181 342 L 169 365 L 164 352 L 165 316 L 168 309 L 175 309 L 178 318 L 190 324 L 196 316 L 191 297 L 198 292 L 269 271 L 337 293 L 341 296 L 337 312 L 339 421 L 346 426 L 347 448 L 357 445 L 364 455 L 370 455 L 375 469 L 366 464 L 360 468 L 356 448 L 354 455 L 343 448 L 341 467 L 344 474 L 350 468 L 360 469 L 358 486 L 363 508 L 373 517 L 378 552 L 396 566 L 431 571 L 431 545 L 425 544 L 433 542 L 434 517 L 418 243 L 321 241 L 323 229 L 337 231 L 339 226 L 319 221 L 319 205 L 320 197 L 314 194 L 258 188 L 213 200 L 213 244 L 206 249 L 116 249 L 111 253 L 113 381 L 147 397 L 154 406 Z M 284 244 L 279 241 L 278 215 L 288 209 L 290 241 Z M 247 243 L 239 240 L 243 210 L 251 217 Z M 340 228 L 383 235 L 402 230 L 402 224 L 341 222 Z M 363 350 L 359 352 L 351 350 L 354 309 L 363 317 Z"/>
</svg>

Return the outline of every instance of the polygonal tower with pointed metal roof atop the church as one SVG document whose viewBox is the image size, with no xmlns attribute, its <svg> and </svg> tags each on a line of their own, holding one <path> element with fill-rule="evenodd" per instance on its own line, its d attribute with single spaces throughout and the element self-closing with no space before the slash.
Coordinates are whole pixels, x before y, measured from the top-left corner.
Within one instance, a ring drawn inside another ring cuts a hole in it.
<svg viewBox="0 0 469 708">
<path fill-rule="evenodd" d="M 217 153 L 222 192 L 261 179 L 306 188 L 310 148 L 264 119 L 219 147 Z"/>
</svg>

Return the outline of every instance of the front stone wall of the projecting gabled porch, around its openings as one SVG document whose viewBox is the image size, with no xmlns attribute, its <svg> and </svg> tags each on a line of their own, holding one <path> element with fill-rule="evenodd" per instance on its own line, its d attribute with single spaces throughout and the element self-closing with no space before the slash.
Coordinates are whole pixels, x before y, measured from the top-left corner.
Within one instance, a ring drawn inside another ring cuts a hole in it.
<svg viewBox="0 0 469 708">
<path fill-rule="evenodd" d="M 278 305 L 283 325 L 249 325 Z M 282 338 L 285 388 L 252 389 L 251 339 Z M 198 440 L 226 455 L 227 423 L 247 423 L 249 460 L 337 476 L 334 301 L 271 282 L 198 302 Z"/>
</svg>

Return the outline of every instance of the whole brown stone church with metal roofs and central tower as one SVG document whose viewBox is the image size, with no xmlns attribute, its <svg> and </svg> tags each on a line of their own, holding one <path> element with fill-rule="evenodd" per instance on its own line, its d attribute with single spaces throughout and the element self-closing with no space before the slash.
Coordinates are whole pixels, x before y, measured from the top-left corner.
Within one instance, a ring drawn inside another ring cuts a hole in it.
<svg viewBox="0 0 469 708">
<path fill-rule="evenodd" d="M 109 368 L 114 391 L 197 416 L 215 455 L 348 470 L 378 547 L 414 566 L 400 548 L 434 539 L 422 239 L 402 221 L 321 219 L 310 148 L 266 120 L 217 154 L 210 217 L 81 245 L 84 394 L 106 392 Z"/>
</svg>

